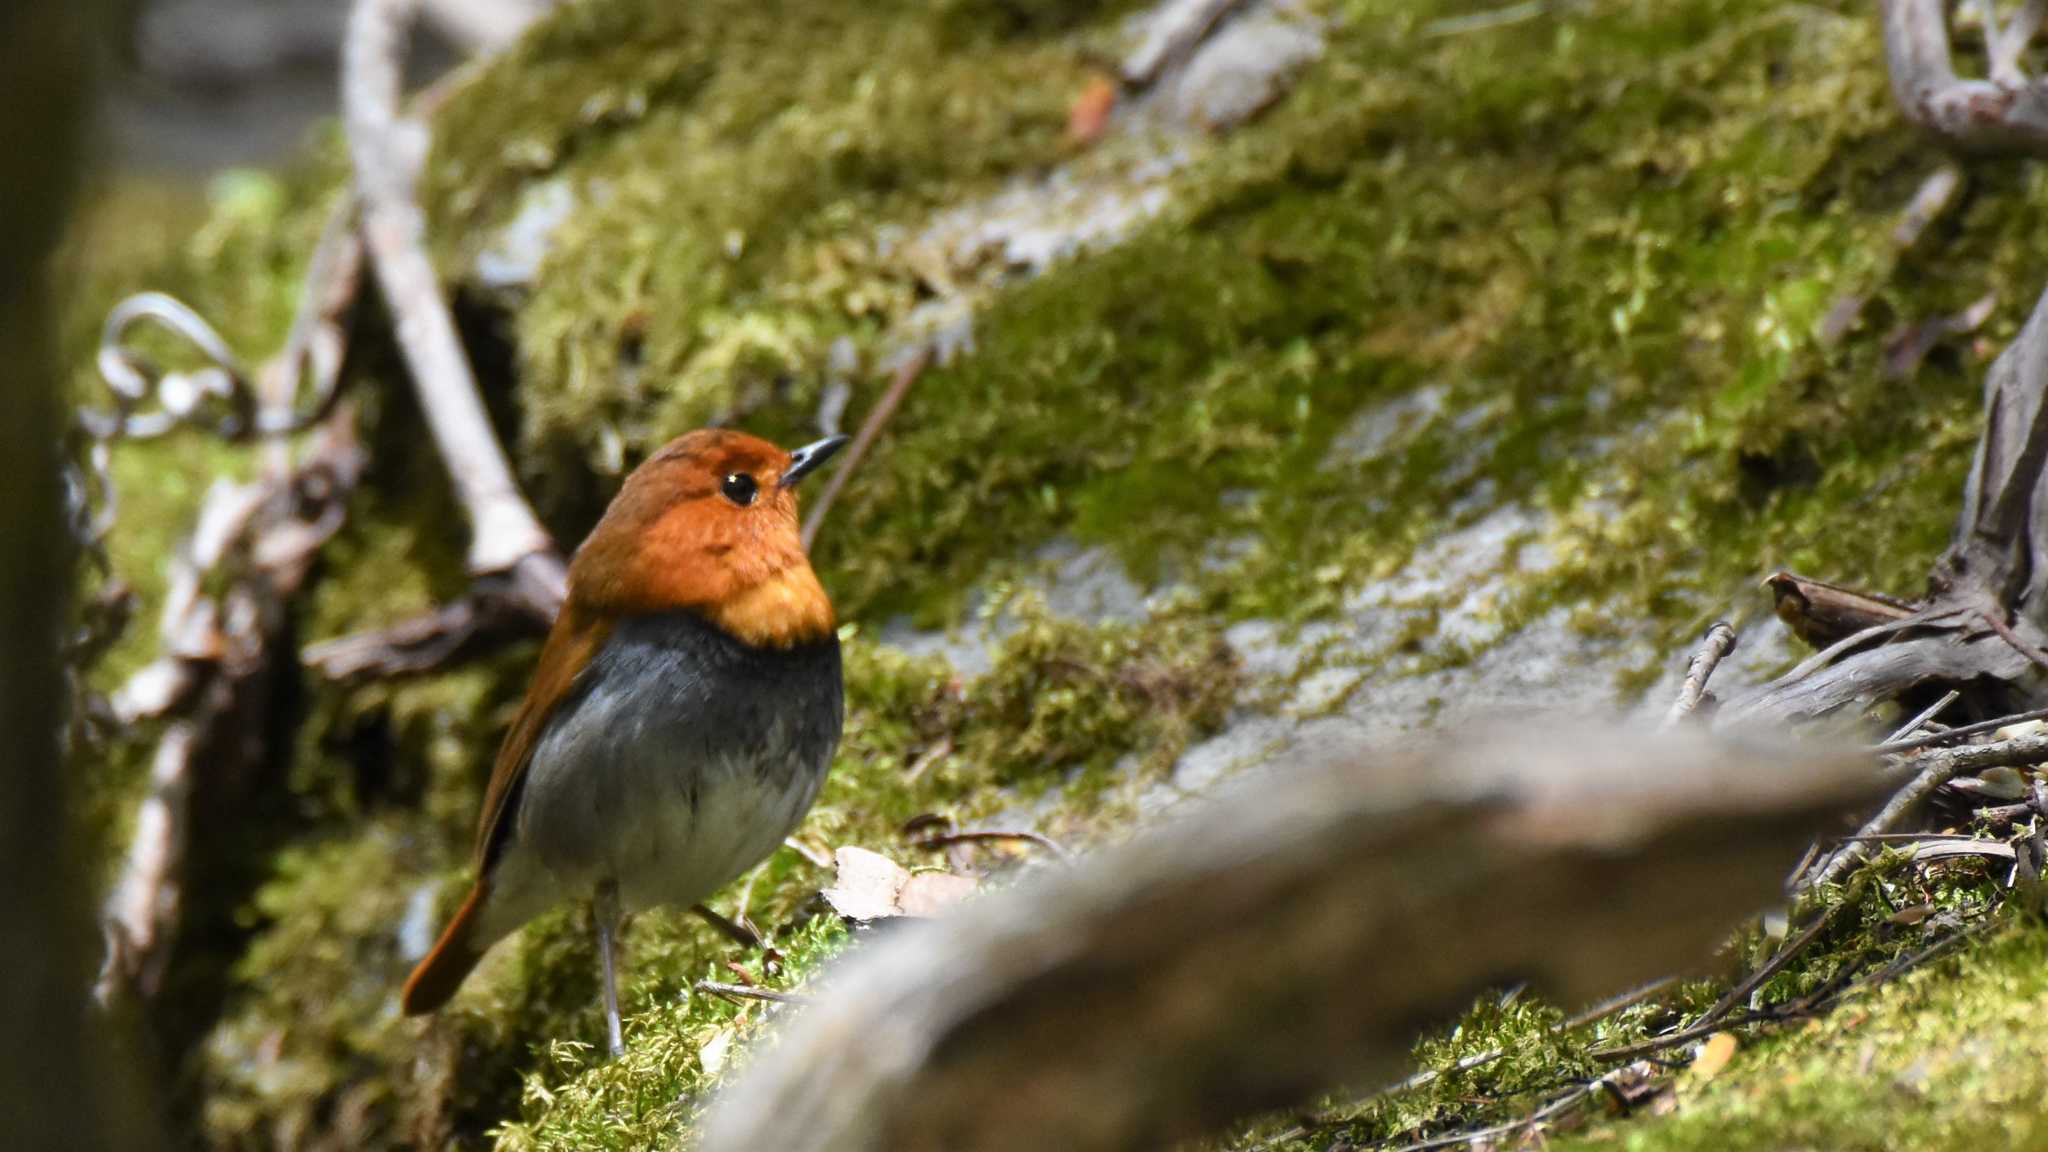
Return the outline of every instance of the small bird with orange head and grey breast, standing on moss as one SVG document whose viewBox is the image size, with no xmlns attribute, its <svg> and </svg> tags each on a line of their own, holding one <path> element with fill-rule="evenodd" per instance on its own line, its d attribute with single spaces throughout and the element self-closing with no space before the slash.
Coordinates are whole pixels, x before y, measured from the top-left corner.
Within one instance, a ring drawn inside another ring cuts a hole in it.
<svg viewBox="0 0 2048 1152">
<path fill-rule="evenodd" d="M 475 881 L 406 980 L 406 1015 L 440 1009 L 485 949 L 588 896 L 618 1056 L 623 916 L 705 900 L 797 828 L 846 703 L 795 488 L 844 443 L 786 453 L 700 428 L 627 476 L 569 560 L 483 793 Z"/>
</svg>

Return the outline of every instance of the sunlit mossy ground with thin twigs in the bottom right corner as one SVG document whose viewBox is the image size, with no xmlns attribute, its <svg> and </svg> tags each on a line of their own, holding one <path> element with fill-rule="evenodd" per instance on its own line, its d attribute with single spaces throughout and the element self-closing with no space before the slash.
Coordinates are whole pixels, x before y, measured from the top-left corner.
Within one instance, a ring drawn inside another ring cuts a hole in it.
<svg viewBox="0 0 2048 1152">
<path fill-rule="evenodd" d="M 2005 890 L 2007 865 L 1913 867 L 1882 857 L 1847 886 L 1800 908 L 1798 927 L 1835 908 L 1825 929 L 1778 976 L 1739 1004 L 1729 1029 L 1737 1056 L 1712 1074 L 1690 1068 L 1700 1041 L 1651 1054 L 1544 1129 L 1548 1148 L 2038 1148 L 2048 1138 L 2040 1037 L 2023 1021 L 2048 984 L 2036 974 L 2048 949 L 2038 888 Z M 1931 945 L 1968 931 L 1962 949 Z M 1757 929 L 1737 937 L 1722 963 L 1753 972 L 1786 945 Z M 1958 959 L 1960 957 L 1960 959 Z M 1366 1105 L 1337 1099 L 1305 1136 L 1296 1117 L 1253 1127 L 1229 1148 L 1329 1152 L 1393 1148 L 1513 1121 L 1575 1084 L 1626 1068 L 1602 1047 L 1640 1041 L 1698 1021 L 1726 980 L 1692 980 L 1595 1023 L 1505 992 L 1483 998 L 1456 1025 L 1415 1047 L 1419 1070 L 1440 1076 Z M 1812 998 L 1812 1011 L 1790 1011 Z M 1782 1019 L 1745 1021 L 1745 1013 Z M 1460 1068 L 1462 1060 L 1499 1054 Z M 1516 1134 L 1528 1136 L 1528 1134 Z M 1978 1140 L 1964 1140 L 1976 1136 Z M 1509 1144 L 1511 1146 L 1511 1144 Z"/>
</svg>

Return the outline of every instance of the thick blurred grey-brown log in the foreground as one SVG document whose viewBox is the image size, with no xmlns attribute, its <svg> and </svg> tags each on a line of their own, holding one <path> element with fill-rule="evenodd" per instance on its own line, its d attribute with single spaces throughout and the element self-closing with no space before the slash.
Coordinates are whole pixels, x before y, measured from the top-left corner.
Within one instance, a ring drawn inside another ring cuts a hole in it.
<svg viewBox="0 0 2048 1152">
<path fill-rule="evenodd" d="M 1399 1072 L 1487 986 L 1589 1002 L 1698 965 L 1878 787 L 1862 754 L 1698 734 L 1331 750 L 860 951 L 702 1150 L 1214 1132 Z"/>
</svg>

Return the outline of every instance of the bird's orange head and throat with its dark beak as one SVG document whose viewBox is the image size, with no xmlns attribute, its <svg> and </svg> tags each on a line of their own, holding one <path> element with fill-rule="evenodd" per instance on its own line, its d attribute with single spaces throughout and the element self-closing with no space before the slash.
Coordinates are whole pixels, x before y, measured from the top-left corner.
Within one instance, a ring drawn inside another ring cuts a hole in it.
<svg viewBox="0 0 2048 1152">
<path fill-rule="evenodd" d="M 795 486 L 846 443 L 786 453 L 727 428 L 670 441 L 633 469 L 569 564 L 569 609 L 688 611 L 758 648 L 823 640 L 831 601 L 811 572 Z"/>
</svg>

